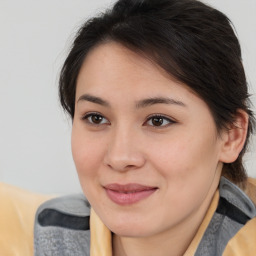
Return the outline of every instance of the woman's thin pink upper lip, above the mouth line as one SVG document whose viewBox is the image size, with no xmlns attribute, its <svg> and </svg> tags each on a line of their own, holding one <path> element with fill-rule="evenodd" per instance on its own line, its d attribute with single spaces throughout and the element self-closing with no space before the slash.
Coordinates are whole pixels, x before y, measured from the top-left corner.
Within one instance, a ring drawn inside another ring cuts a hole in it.
<svg viewBox="0 0 256 256">
<path fill-rule="evenodd" d="M 124 185 L 113 183 L 113 184 L 108 184 L 108 185 L 104 186 L 104 188 L 113 190 L 113 191 L 117 191 L 117 192 L 127 193 L 127 192 L 140 192 L 140 191 L 145 191 L 145 190 L 152 190 L 152 189 L 156 189 L 157 187 L 141 185 L 141 184 L 137 184 L 137 183 L 129 183 L 129 184 L 124 184 Z"/>
</svg>

